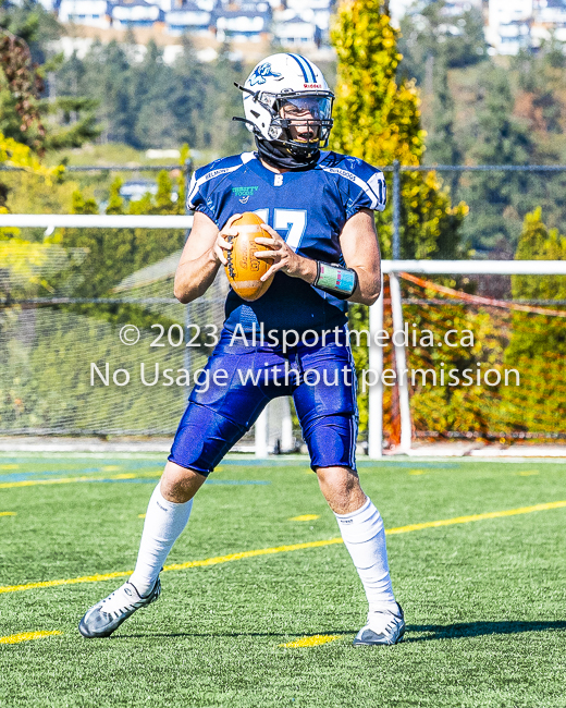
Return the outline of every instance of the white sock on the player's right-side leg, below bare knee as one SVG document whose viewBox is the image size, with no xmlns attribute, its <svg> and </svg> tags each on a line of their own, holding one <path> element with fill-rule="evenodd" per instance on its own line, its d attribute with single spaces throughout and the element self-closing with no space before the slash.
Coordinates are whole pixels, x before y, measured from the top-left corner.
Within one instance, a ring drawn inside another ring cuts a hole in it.
<svg viewBox="0 0 566 708">
<path fill-rule="evenodd" d="M 335 516 L 344 544 L 366 590 L 369 612 L 396 610 L 389 574 L 383 520 L 371 499 L 350 514 Z"/>
</svg>

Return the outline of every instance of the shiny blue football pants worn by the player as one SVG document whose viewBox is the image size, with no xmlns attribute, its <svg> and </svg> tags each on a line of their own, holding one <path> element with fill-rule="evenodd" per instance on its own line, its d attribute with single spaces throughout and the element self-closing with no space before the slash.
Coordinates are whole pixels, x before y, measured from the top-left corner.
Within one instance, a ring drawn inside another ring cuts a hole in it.
<svg viewBox="0 0 566 708">
<path fill-rule="evenodd" d="M 355 469 L 356 377 L 344 331 L 287 352 L 231 338 L 222 332 L 193 389 L 169 460 L 208 476 L 269 401 L 292 395 L 311 467 Z"/>
</svg>

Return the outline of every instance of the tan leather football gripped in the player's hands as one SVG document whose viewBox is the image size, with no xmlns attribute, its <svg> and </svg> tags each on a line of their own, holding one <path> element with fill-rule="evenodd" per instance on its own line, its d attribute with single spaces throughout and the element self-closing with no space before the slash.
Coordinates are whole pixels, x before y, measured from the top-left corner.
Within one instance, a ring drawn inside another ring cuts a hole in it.
<svg viewBox="0 0 566 708">
<path fill-rule="evenodd" d="M 269 270 L 273 259 L 259 259 L 254 255 L 256 251 L 269 251 L 268 246 L 255 241 L 256 236 L 271 237 L 261 224 L 264 224 L 264 221 L 257 213 L 246 211 L 232 223 L 232 227 L 237 229 L 237 236 L 226 239 L 233 244 L 232 251 L 225 252 L 226 276 L 232 289 L 247 302 L 261 297 L 273 281 L 273 276 L 266 282 L 260 280 L 261 276 Z"/>
</svg>

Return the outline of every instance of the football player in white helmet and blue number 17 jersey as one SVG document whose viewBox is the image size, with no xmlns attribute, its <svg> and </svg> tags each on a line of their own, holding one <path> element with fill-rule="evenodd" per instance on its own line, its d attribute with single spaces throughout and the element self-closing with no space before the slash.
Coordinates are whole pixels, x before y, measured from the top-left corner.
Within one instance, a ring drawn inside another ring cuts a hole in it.
<svg viewBox="0 0 566 708">
<path fill-rule="evenodd" d="M 159 597 L 159 573 L 188 522 L 194 496 L 266 404 L 292 395 L 311 467 L 369 603 L 354 645 L 396 644 L 405 622 L 391 585 L 383 521 L 356 472 L 355 373 L 346 330 L 347 303 L 371 305 L 379 296 L 373 212 L 385 207 L 385 182 L 366 162 L 324 150 L 334 96 L 308 59 L 268 57 L 239 88 L 245 112 L 239 120 L 253 132 L 257 150 L 195 172 L 188 191 L 194 225 L 174 291 L 182 303 L 206 292 L 226 264 L 229 239 L 237 233 L 231 224 L 242 211 L 255 211 L 269 224 L 269 237 L 257 242 L 270 251 L 256 256 L 272 259 L 263 280 L 274 278 L 256 302 L 230 291 L 220 342 L 207 364 L 212 383 L 190 393 L 149 501 L 135 571 L 87 611 L 79 631 L 85 637 L 110 636 Z M 270 331 L 294 331 L 300 340 L 287 347 L 257 341 L 259 332 Z M 217 379 L 217 371 L 225 374 Z"/>
</svg>

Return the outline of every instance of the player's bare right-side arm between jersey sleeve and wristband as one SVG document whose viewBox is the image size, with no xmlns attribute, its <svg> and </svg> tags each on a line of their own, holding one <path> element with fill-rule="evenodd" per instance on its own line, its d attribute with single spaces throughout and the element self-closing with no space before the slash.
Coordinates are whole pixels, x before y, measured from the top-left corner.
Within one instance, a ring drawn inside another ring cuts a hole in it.
<svg viewBox="0 0 566 708">
<path fill-rule="evenodd" d="M 361 208 L 346 221 L 340 245 L 346 266 L 358 276 L 357 288 L 348 301 L 373 305 L 381 291 L 381 255 L 371 209 Z"/>
</svg>

